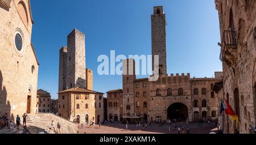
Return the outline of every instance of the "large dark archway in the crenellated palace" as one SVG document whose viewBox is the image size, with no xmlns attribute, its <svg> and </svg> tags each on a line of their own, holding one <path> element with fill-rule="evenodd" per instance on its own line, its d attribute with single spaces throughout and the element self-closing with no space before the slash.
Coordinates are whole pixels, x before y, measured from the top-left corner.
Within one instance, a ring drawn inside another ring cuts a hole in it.
<svg viewBox="0 0 256 145">
<path fill-rule="evenodd" d="M 188 117 L 188 107 L 182 103 L 174 103 L 168 107 L 167 117 L 170 120 L 186 121 Z"/>
</svg>

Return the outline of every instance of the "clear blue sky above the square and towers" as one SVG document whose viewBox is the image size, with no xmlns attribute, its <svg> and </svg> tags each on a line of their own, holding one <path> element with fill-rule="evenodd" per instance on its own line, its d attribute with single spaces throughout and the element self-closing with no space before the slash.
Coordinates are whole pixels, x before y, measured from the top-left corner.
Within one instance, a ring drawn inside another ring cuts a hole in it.
<svg viewBox="0 0 256 145">
<path fill-rule="evenodd" d="M 97 73 L 98 56 L 151 54 L 151 14 L 163 6 L 167 19 L 168 74 L 212 77 L 221 71 L 220 30 L 214 1 L 205 0 L 44 0 L 31 1 L 32 42 L 39 59 L 38 89 L 57 97 L 59 49 L 77 28 L 85 33 L 86 67 L 94 90 L 122 88 L 122 76 Z M 139 78 L 143 76 L 138 76 Z"/>
</svg>

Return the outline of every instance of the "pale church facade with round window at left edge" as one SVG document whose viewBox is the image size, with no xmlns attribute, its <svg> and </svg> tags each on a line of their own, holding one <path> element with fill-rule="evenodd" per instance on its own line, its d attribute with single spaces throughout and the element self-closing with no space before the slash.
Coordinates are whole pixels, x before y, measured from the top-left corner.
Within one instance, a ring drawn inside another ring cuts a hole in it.
<svg viewBox="0 0 256 145">
<path fill-rule="evenodd" d="M 30 1 L 0 1 L 0 115 L 36 112 L 38 67 Z"/>
</svg>

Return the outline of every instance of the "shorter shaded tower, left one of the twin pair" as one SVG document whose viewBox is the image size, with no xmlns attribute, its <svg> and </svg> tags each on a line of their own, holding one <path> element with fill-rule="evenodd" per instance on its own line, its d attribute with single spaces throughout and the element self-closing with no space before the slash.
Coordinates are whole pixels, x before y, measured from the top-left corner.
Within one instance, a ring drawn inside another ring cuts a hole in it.
<svg viewBox="0 0 256 145">
<path fill-rule="evenodd" d="M 67 88 L 67 53 L 68 48 L 63 46 L 59 56 L 59 92 Z"/>
</svg>

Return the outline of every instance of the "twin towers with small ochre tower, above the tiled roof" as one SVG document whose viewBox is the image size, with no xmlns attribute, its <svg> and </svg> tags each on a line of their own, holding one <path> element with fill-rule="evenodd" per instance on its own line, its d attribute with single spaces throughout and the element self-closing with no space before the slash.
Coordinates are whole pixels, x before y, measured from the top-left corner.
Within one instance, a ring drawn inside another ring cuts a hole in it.
<svg viewBox="0 0 256 145">
<path fill-rule="evenodd" d="M 59 92 L 70 88 L 93 90 L 93 71 L 86 69 L 85 35 L 74 29 L 68 35 L 68 46 L 60 49 Z"/>
</svg>

